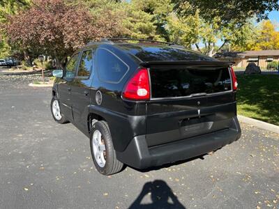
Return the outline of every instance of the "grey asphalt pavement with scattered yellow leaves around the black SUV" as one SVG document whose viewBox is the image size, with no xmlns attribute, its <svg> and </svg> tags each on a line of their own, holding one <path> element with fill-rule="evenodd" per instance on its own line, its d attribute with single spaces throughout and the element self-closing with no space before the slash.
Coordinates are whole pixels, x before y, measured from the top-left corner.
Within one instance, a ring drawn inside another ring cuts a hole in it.
<svg viewBox="0 0 279 209">
<path fill-rule="evenodd" d="M 0 208 L 279 208 L 278 135 L 241 124 L 204 160 L 101 176 L 89 139 L 53 121 L 51 88 L 32 79 L 0 74 Z"/>
</svg>

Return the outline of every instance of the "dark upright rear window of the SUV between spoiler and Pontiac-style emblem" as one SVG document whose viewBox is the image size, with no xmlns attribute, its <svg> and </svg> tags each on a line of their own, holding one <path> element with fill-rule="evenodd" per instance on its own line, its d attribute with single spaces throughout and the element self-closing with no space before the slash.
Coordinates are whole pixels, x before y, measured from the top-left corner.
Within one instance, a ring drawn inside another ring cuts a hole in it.
<svg viewBox="0 0 279 209">
<path fill-rule="evenodd" d="M 195 93 L 218 93 L 232 90 L 228 68 L 216 70 L 152 69 L 152 98 L 190 96 Z"/>
</svg>

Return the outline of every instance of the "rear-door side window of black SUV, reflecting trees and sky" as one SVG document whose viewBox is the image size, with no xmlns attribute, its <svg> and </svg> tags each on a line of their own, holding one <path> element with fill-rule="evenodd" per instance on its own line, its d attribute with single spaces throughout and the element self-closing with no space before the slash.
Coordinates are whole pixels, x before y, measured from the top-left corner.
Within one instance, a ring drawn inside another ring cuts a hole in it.
<svg viewBox="0 0 279 209">
<path fill-rule="evenodd" d="M 93 55 L 92 51 L 84 51 L 82 58 L 80 59 L 80 67 L 77 72 L 77 76 L 89 77 L 93 68 Z"/>
</svg>

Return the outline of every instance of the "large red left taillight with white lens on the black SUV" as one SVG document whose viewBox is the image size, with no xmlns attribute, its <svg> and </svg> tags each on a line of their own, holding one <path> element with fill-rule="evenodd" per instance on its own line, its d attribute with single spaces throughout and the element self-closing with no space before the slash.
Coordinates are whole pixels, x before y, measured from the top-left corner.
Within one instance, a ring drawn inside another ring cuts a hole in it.
<svg viewBox="0 0 279 209">
<path fill-rule="evenodd" d="M 129 100 L 149 100 L 149 74 L 146 68 L 140 68 L 128 81 L 123 91 L 123 98 Z"/>
</svg>

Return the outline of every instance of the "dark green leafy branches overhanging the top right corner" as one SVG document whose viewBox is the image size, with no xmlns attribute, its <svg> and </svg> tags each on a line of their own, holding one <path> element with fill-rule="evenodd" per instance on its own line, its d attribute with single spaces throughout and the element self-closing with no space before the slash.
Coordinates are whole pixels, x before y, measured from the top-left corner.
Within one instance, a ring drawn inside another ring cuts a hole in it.
<svg viewBox="0 0 279 209">
<path fill-rule="evenodd" d="M 235 20 L 243 24 L 246 20 L 256 16 L 257 20 L 268 17 L 266 11 L 279 10 L 278 0 L 173 0 L 175 9 L 183 16 L 195 15 L 199 10 L 204 20 L 210 21 L 216 17 L 227 24 Z"/>
</svg>

